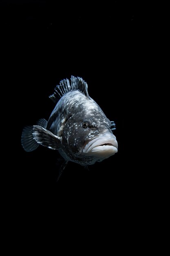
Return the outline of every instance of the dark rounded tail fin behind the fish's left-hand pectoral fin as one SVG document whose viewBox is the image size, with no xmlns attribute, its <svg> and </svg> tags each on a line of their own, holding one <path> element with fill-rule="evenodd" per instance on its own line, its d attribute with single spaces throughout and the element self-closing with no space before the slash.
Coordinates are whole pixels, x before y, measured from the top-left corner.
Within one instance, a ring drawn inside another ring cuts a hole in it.
<svg viewBox="0 0 170 256">
<path fill-rule="evenodd" d="M 42 118 L 38 120 L 37 125 L 46 128 L 47 121 L 44 118 Z M 40 144 L 38 144 L 37 141 L 35 141 L 35 139 L 33 138 L 33 126 L 24 127 L 21 136 L 21 144 L 26 152 L 31 152 L 38 148 Z"/>
</svg>

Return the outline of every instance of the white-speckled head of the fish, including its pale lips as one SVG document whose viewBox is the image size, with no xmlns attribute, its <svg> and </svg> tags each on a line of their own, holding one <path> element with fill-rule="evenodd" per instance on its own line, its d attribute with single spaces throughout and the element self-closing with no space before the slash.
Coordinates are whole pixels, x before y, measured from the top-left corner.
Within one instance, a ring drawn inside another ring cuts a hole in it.
<svg viewBox="0 0 170 256">
<path fill-rule="evenodd" d="M 110 120 L 105 115 L 70 117 L 64 126 L 63 144 L 72 157 L 93 159 L 92 164 L 114 155 L 118 148 Z"/>
</svg>

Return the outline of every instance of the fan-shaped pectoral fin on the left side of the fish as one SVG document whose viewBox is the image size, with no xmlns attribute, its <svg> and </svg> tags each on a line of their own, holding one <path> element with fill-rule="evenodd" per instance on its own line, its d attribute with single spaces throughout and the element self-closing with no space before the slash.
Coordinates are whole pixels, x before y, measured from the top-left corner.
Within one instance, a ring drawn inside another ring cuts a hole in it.
<svg viewBox="0 0 170 256">
<path fill-rule="evenodd" d="M 42 146 L 46 146 L 51 149 L 61 148 L 62 137 L 54 135 L 42 126 L 33 126 L 33 138 Z"/>
</svg>

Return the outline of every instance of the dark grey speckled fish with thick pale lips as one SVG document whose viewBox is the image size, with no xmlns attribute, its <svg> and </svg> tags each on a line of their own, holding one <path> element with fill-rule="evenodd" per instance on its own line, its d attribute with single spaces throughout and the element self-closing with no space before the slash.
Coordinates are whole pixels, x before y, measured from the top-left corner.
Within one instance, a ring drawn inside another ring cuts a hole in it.
<svg viewBox="0 0 170 256">
<path fill-rule="evenodd" d="M 61 80 L 49 98 L 55 103 L 49 120 L 39 119 L 22 130 L 26 152 L 39 145 L 58 150 L 63 160 L 60 175 L 69 161 L 88 166 L 117 153 L 115 122 L 88 95 L 88 85 L 81 77 Z"/>
</svg>

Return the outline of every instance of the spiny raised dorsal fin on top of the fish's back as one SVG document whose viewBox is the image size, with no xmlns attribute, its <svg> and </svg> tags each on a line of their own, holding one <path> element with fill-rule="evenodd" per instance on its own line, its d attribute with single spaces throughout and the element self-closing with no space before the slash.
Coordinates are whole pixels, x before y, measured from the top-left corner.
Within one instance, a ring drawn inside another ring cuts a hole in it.
<svg viewBox="0 0 170 256">
<path fill-rule="evenodd" d="M 71 83 L 70 83 L 71 81 Z M 49 96 L 49 98 L 54 102 L 57 103 L 59 99 L 69 91 L 79 90 L 80 92 L 84 93 L 84 95 L 88 96 L 88 89 L 87 83 L 81 77 L 71 76 L 70 81 L 68 79 L 64 79 L 60 81 L 60 85 L 56 85 L 55 92 Z"/>
</svg>

